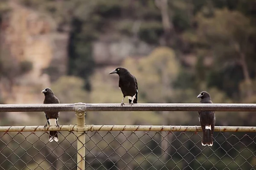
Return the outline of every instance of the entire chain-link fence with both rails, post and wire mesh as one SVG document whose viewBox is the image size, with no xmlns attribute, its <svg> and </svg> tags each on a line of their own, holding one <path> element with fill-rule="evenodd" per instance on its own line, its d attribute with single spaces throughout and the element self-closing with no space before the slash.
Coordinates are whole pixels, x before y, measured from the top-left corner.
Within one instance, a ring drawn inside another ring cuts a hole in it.
<svg viewBox="0 0 256 170">
<path fill-rule="evenodd" d="M 254 170 L 256 127 L 85 125 L 85 111 L 256 111 L 256 104 L 28 104 L 0 112 L 75 111 L 77 125 L 0 126 L 3 170 Z M 49 142 L 49 131 L 59 141 Z"/>
</svg>

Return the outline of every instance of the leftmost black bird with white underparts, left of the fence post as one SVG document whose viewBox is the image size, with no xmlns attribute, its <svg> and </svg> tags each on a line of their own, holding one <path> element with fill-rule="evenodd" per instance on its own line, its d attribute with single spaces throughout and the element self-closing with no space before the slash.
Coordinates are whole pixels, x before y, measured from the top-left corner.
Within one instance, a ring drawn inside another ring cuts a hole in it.
<svg viewBox="0 0 256 170">
<path fill-rule="evenodd" d="M 45 88 L 42 93 L 44 94 L 44 104 L 58 104 L 60 103 L 58 98 L 54 96 L 52 90 L 50 88 Z M 49 126 L 55 125 L 56 127 L 60 127 L 58 124 L 58 116 L 59 112 L 58 111 L 46 111 L 44 112 L 47 122 L 44 125 L 44 128 L 46 129 L 47 123 Z M 57 131 L 50 131 L 49 133 L 49 142 L 52 142 L 55 140 L 58 142 L 58 133 Z"/>
</svg>

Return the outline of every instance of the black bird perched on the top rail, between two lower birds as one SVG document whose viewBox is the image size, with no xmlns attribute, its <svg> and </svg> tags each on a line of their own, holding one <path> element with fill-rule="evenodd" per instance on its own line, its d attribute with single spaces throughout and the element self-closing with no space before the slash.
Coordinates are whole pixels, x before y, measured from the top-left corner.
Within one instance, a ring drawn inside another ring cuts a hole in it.
<svg viewBox="0 0 256 170">
<path fill-rule="evenodd" d="M 128 69 L 126 68 L 116 68 L 115 70 L 111 71 L 109 74 L 118 74 L 119 75 L 119 88 L 122 91 L 123 99 L 121 106 L 124 104 L 125 96 L 128 96 L 129 103 L 133 105 L 137 103 L 138 100 L 138 83 L 137 79 L 132 75 Z"/>
</svg>

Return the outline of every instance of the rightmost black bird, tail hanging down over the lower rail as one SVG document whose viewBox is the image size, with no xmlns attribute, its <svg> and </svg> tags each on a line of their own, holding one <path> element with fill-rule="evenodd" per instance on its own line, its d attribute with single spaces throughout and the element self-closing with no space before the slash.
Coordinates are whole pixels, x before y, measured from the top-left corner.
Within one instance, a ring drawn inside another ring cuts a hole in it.
<svg viewBox="0 0 256 170">
<path fill-rule="evenodd" d="M 212 103 L 211 96 L 206 91 L 202 91 L 197 98 L 201 98 L 200 103 Z M 214 111 L 198 111 L 199 122 L 203 130 L 202 145 L 212 146 L 212 134 L 215 126 Z"/>
</svg>

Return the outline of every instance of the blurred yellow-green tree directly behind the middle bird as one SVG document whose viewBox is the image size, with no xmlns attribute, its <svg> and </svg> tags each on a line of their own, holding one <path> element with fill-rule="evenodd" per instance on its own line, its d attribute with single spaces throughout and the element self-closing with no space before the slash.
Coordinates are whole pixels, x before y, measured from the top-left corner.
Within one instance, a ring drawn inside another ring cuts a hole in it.
<svg viewBox="0 0 256 170">
<path fill-rule="evenodd" d="M 124 67 L 131 70 L 137 78 L 140 95 L 144 96 L 147 102 L 159 103 L 172 96 L 172 86 L 179 73 L 180 63 L 172 49 L 160 47 L 137 62 L 135 59 L 126 59 Z M 148 89 L 151 93 L 148 93 Z"/>
</svg>

